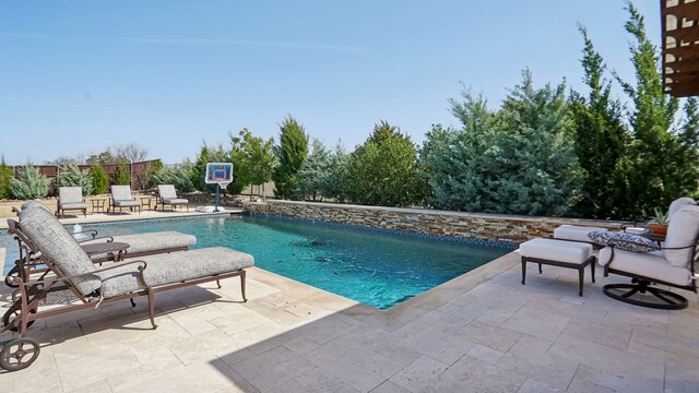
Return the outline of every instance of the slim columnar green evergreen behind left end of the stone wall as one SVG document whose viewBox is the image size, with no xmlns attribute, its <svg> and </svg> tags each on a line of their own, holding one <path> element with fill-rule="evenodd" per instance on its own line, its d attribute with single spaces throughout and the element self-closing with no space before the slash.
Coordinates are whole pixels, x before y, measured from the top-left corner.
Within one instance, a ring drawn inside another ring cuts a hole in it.
<svg viewBox="0 0 699 393">
<path fill-rule="evenodd" d="M 296 196 L 296 174 L 308 155 L 308 135 L 296 119 L 288 116 L 280 126 L 280 145 L 276 147 L 279 166 L 272 175 L 277 198 L 291 199 Z"/>
</svg>

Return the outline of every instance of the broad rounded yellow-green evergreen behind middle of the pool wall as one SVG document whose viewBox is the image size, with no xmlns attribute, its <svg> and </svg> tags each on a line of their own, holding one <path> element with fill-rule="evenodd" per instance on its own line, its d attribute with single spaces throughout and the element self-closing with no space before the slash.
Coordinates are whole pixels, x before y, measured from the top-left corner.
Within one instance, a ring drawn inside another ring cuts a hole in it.
<svg viewBox="0 0 699 393">
<path fill-rule="evenodd" d="M 384 126 L 376 124 L 372 135 L 350 156 L 344 192 L 350 201 L 366 205 L 417 205 L 427 194 L 417 148 L 400 131 L 386 133 Z"/>
</svg>

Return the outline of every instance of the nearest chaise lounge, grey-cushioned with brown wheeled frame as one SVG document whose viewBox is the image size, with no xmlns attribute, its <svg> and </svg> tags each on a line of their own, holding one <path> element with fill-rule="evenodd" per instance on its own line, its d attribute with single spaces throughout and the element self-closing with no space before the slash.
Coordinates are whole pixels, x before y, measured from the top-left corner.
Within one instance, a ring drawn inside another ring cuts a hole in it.
<svg viewBox="0 0 699 393">
<path fill-rule="evenodd" d="M 223 247 L 144 257 L 97 269 L 73 237 L 50 212 L 27 206 L 20 214 L 20 223 L 8 219 L 10 233 L 17 236 L 56 275 L 38 282 L 14 278 L 21 294 L 3 315 L 2 332 L 16 330 L 20 337 L 0 349 L 0 367 L 21 370 L 34 362 L 40 352 L 38 342 L 26 337 L 28 326 L 36 320 L 102 303 L 145 296 L 149 317 L 155 324 L 154 294 L 183 286 L 240 276 L 242 301 L 246 267 L 254 264 L 251 255 Z M 80 303 L 44 309 L 43 299 L 49 293 L 69 289 Z"/>
</svg>

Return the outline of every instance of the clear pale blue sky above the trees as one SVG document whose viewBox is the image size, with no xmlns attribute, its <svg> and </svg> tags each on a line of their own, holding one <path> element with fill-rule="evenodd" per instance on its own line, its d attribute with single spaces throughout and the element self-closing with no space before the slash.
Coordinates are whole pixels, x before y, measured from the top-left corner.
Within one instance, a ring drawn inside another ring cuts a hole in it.
<svg viewBox="0 0 699 393">
<path fill-rule="evenodd" d="M 582 88 L 583 24 L 632 80 L 623 0 L 39 1 L 0 4 L 0 151 L 10 164 L 135 142 L 193 158 L 292 115 L 352 150 L 383 119 L 422 143 L 460 82 L 497 106 L 534 82 Z M 637 0 L 660 41 L 660 4 Z M 623 96 L 620 96 L 624 98 Z"/>
</svg>

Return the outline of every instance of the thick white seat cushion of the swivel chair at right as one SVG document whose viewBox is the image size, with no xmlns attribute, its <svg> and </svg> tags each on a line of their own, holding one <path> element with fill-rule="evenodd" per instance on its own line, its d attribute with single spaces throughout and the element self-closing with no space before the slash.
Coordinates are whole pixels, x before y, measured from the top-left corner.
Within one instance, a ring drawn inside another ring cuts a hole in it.
<svg viewBox="0 0 699 393">
<path fill-rule="evenodd" d="M 597 261 L 601 266 L 606 266 L 611 259 L 611 247 L 600 250 Z M 640 253 L 614 249 L 614 259 L 609 267 L 671 284 L 682 286 L 691 284 L 691 272 L 687 267 L 673 266 L 667 263 L 662 251 Z"/>
</svg>

